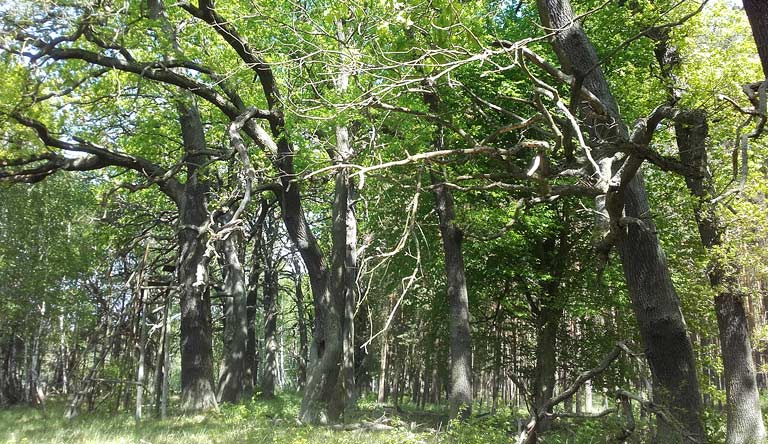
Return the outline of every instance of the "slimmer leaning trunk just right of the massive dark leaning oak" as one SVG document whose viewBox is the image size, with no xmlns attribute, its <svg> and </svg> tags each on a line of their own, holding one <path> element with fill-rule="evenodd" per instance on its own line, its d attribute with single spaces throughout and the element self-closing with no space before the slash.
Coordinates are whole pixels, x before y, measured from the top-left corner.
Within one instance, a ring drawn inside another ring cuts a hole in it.
<svg viewBox="0 0 768 444">
<path fill-rule="evenodd" d="M 746 2 L 745 2 L 746 4 Z M 680 160 L 697 167 L 704 178 L 686 178 L 691 195 L 698 200 L 694 208 L 701 243 L 712 252 L 709 282 L 715 291 L 715 310 L 720 331 L 723 358 L 726 408 L 728 412 L 727 444 L 757 444 L 765 441 L 765 425 L 760 411 L 755 365 L 752 362 L 749 321 L 744 309 L 744 295 L 738 291 L 732 264 L 723 262 L 722 253 L 713 252 L 723 244 L 724 228 L 717 214 L 714 184 L 709 176 L 706 139 L 707 117 L 701 111 L 683 113 L 675 124 Z"/>
</svg>

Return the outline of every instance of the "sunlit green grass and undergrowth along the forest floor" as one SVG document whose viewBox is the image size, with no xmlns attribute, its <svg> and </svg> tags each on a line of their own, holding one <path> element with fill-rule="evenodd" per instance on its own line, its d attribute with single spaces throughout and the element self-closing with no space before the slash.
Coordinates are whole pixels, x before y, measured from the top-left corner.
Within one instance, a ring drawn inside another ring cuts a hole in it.
<svg viewBox="0 0 768 444">
<path fill-rule="evenodd" d="M 765 399 L 763 400 L 765 402 Z M 284 393 L 273 400 L 255 400 L 239 405 L 224 405 L 219 411 L 181 415 L 171 412 L 165 420 L 148 416 L 136 422 L 130 413 L 108 413 L 104 407 L 64 419 L 64 402 L 50 402 L 47 414 L 29 407 L 0 409 L 0 444 L 171 444 L 171 443 L 265 443 L 265 444 L 485 444 L 509 443 L 525 426 L 525 412 L 500 409 L 464 423 L 448 422 L 444 407 L 419 409 L 404 404 L 397 409 L 360 400 L 348 423 L 379 422 L 391 428 L 337 430 L 326 426 L 307 426 L 296 422 L 300 398 Z M 708 411 L 705 423 L 711 442 L 723 442 L 725 418 Z M 611 415 L 602 419 L 560 419 L 543 437 L 552 444 L 616 442 L 626 427 Z M 636 412 L 635 428 L 628 443 L 647 442 L 651 436 L 647 417 Z"/>
</svg>

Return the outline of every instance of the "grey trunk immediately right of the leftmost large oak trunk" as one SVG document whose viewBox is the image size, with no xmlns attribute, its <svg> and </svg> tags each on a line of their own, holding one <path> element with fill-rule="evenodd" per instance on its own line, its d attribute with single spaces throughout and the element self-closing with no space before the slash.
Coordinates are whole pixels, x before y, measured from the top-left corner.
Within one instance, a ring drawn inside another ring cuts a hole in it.
<svg viewBox="0 0 768 444">
<path fill-rule="evenodd" d="M 222 223 L 229 222 L 231 214 Z M 240 231 L 216 241 L 224 284 L 224 362 L 219 372 L 219 402 L 239 402 L 245 389 L 245 351 L 248 339 L 245 272 L 240 263 Z"/>
</svg>

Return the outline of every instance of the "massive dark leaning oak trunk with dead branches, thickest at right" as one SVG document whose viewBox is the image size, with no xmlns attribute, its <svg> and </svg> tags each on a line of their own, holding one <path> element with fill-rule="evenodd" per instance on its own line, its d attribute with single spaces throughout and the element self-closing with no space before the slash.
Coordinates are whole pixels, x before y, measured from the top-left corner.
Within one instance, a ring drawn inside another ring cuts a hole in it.
<svg viewBox="0 0 768 444">
<path fill-rule="evenodd" d="M 560 29 L 554 34 L 552 44 L 563 69 L 584 77 L 584 87 L 603 102 L 611 117 L 608 121 L 599 121 L 583 113 L 592 137 L 625 139 L 626 130 L 616 101 L 602 71 L 595 67 L 599 64 L 595 49 L 575 21 L 569 1 L 538 0 L 538 7 L 544 26 Z M 639 174 L 629 183 L 623 203 L 626 216 L 643 221 L 642 226 L 629 224 L 618 239 L 617 247 L 653 374 L 654 401 L 668 408 L 692 438 L 703 441 L 701 395 L 693 348 L 656 236 L 656 227 L 649 217 L 648 197 Z M 677 428 L 661 418 L 657 433 L 665 442 L 683 442 L 685 439 Z"/>
</svg>

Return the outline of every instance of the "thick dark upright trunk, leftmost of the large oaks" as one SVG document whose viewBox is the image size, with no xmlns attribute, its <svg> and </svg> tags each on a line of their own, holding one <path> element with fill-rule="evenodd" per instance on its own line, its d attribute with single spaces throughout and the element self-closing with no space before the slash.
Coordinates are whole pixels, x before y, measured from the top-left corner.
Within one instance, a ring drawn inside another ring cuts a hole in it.
<svg viewBox="0 0 768 444">
<path fill-rule="evenodd" d="M 178 198 L 179 263 L 181 287 L 181 408 L 185 411 L 216 407 L 213 391 L 211 302 L 204 228 L 208 222 L 205 193 L 197 168 L 205 160 L 195 154 L 205 149 L 203 124 L 197 107 L 179 105 L 181 132 L 187 157 L 187 183 Z"/>
</svg>

